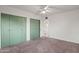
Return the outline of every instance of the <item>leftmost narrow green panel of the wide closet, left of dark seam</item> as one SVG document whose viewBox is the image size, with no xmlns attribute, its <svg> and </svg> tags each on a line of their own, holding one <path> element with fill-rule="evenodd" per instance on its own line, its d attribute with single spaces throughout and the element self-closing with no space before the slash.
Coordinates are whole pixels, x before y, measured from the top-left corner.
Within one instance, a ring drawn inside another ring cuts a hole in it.
<svg viewBox="0 0 79 59">
<path fill-rule="evenodd" d="M 1 47 L 10 45 L 9 30 L 9 15 L 1 14 Z"/>
</svg>

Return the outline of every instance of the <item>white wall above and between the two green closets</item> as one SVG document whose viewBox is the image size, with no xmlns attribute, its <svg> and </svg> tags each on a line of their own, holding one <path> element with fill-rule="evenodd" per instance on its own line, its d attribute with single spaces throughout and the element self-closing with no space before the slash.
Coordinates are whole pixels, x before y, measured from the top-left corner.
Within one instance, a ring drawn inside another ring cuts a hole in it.
<svg viewBox="0 0 79 59">
<path fill-rule="evenodd" d="M 11 14 L 11 15 L 16 15 L 16 16 L 23 16 L 23 17 L 27 17 L 27 38 L 26 40 L 29 41 L 30 40 L 30 18 L 34 18 L 34 19 L 37 19 L 37 20 L 40 20 L 41 17 L 36 15 L 36 14 L 33 14 L 33 13 L 30 13 L 28 11 L 23 11 L 23 10 L 19 10 L 19 9 L 16 9 L 16 8 L 12 8 L 12 7 L 8 7 L 8 6 L 0 6 L 0 14 L 1 13 L 6 13 L 6 14 Z M 0 31 L 1 32 L 1 31 Z M 1 37 L 0 37 L 0 41 L 1 41 Z"/>
</svg>

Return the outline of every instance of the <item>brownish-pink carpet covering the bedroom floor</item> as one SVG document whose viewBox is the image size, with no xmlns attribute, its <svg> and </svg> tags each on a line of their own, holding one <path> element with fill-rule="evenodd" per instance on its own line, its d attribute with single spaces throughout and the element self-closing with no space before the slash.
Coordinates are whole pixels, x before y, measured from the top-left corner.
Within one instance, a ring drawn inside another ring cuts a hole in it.
<svg viewBox="0 0 79 59">
<path fill-rule="evenodd" d="M 79 44 L 53 38 L 41 38 L 0 49 L 1 53 L 78 53 Z"/>
</svg>

